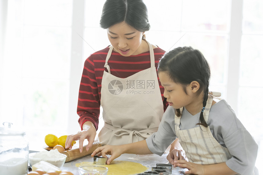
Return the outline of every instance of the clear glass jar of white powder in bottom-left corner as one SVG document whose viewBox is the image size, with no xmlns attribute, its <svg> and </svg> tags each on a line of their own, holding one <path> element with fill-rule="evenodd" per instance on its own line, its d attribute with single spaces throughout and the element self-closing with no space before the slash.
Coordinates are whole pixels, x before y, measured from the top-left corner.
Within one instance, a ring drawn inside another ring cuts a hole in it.
<svg viewBox="0 0 263 175">
<path fill-rule="evenodd" d="M 1 175 L 24 175 L 28 173 L 28 141 L 25 132 L 11 129 L 12 123 L 0 127 Z"/>
</svg>

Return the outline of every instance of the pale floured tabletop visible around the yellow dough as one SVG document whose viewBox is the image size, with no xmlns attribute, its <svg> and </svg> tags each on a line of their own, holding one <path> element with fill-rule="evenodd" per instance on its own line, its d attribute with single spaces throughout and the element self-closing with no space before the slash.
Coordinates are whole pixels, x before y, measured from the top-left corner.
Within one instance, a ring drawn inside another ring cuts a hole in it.
<svg viewBox="0 0 263 175">
<path fill-rule="evenodd" d="M 168 160 L 166 159 L 167 154 L 163 154 L 162 156 L 156 154 L 150 155 L 135 155 L 135 154 L 122 154 L 115 160 L 123 160 L 123 161 L 130 161 L 130 162 L 137 162 L 149 168 L 146 171 L 151 171 L 151 167 L 156 166 L 157 163 L 165 163 L 169 164 Z M 109 157 L 109 155 L 108 155 Z M 76 163 L 81 162 L 93 162 L 93 157 L 91 155 L 84 156 L 79 159 L 72 160 L 70 162 L 66 162 L 64 166 L 61 168 L 62 171 L 70 171 L 74 175 L 79 175 L 78 167 L 76 167 Z M 172 175 L 183 175 L 187 169 L 181 168 L 174 168 L 172 167 Z"/>
</svg>

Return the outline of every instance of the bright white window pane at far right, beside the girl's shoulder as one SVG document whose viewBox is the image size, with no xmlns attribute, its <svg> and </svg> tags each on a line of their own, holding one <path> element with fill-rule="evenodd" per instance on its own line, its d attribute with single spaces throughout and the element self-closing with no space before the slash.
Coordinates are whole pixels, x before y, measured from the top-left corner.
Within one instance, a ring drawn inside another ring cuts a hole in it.
<svg viewBox="0 0 263 175">
<path fill-rule="evenodd" d="M 261 81 L 263 51 L 260 47 L 263 41 L 262 8 L 263 2 L 260 0 L 244 0 L 238 92 L 238 115 L 258 143 L 256 166 L 261 173 L 263 172 L 260 166 L 263 160 L 263 132 L 261 131 L 263 95 L 260 93 L 263 91 Z"/>
</svg>

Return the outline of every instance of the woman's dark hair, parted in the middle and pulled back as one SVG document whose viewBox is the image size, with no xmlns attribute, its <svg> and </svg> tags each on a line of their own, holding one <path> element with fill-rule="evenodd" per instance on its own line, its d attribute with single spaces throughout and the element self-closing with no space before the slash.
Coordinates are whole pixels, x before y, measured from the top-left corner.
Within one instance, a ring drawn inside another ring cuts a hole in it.
<svg viewBox="0 0 263 175">
<path fill-rule="evenodd" d="M 147 7 L 142 0 L 106 0 L 100 26 L 107 29 L 123 21 L 138 31 L 150 30 Z"/>
</svg>

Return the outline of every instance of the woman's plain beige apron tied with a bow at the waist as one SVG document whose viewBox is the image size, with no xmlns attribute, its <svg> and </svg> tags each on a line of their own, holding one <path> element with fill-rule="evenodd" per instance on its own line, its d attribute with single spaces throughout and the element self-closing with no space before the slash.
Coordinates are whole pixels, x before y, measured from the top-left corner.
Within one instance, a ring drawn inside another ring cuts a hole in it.
<svg viewBox="0 0 263 175">
<path fill-rule="evenodd" d="M 154 64 L 154 51 L 152 45 L 147 43 L 151 67 L 127 78 L 110 74 L 108 60 L 113 46 L 109 46 L 104 66 L 108 72 L 103 73 L 101 89 L 104 126 L 98 139 L 102 145 L 145 140 L 158 130 L 164 108 Z"/>
</svg>

